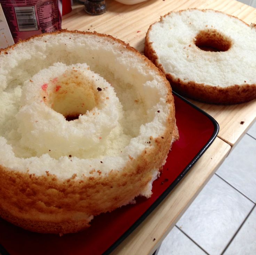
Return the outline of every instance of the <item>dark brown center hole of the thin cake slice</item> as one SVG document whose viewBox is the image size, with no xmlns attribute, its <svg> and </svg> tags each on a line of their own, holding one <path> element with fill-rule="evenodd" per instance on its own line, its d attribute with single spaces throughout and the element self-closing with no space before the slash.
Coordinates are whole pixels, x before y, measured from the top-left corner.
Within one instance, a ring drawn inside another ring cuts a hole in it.
<svg viewBox="0 0 256 255">
<path fill-rule="evenodd" d="M 195 37 L 195 45 L 204 51 L 227 51 L 232 46 L 232 41 L 216 29 L 200 31 Z"/>
</svg>

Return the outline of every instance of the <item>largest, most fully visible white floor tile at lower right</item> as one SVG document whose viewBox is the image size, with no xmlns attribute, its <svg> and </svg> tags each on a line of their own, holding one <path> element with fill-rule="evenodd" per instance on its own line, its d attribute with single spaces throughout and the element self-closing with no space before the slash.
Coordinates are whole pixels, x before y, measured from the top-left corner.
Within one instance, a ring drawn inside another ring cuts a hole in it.
<svg viewBox="0 0 256 255">
<path fill-rule="evenodd" d="M 207 253 L 219 255 L 253 206 L 249 199 L 214 175 L 177 226 Z"/>
</svg>

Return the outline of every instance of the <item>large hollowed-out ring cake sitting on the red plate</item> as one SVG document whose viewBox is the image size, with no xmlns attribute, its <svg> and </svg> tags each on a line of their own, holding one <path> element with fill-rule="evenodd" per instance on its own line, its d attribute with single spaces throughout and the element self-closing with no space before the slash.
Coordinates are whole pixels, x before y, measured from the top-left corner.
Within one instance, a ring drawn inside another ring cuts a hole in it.
<svg viewBox="0 0 256 255">
<path fill-rule="evenodd" d="M 178 138 L 164 74 L 111 36 L 59 31 L 0 54 L 0 216 L 43 233 L 151 196 Z"/>
</svg>

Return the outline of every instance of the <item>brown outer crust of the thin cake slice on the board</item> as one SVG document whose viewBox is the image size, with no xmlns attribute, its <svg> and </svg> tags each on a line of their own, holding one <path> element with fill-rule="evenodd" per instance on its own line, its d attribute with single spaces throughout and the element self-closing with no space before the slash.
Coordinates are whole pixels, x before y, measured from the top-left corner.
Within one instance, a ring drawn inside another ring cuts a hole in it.
<svg viewBox="0 0 256 255">
<path fill-rule="evenodd" d="M 197 8 L 194 8 L 194 10 L 197 10 Z M 179 10 L 177 12 L 182 12 L 182 11 L 186 11 L 186 10 Z M 205 12 L 207 11 L 207 9 L 203 9 L 201 11 Z M 216 10 L 213 10 L 213 11 L 221 12 Z M 165 16 L 169 15 L 170 13 L 171 12 L 169 12 Z M 228 15 L 228 14 L 226 15 L 233 18 L 237 18 L 232 15 Z M 165 16 L 162 16 L 160 20 L 162 20 L 163 17 Z M 240 21 L 243 22 L 243 20 L 240 20 Z M 171 87 L 174 89 L 174 91 L 176 91 L 181 95 L 190 97 L 198 101 L 202 101 L 205 103 L 214 103 L 214 104 L 237 104 L 237 103 L 245 103 L 245 102 L 256 99 L 256 84 L 246 84 L 246 81 L 242 85 L 234 84 L 232 86 L 223 88 L 220 86 L 211 86 L 203 83 L 198 84 L 198 83 L 195 83 L 194 81 L 184 82 L 183 80 L 177 77 L 174 77 L 169 73 L 166 73 L 164 67 L 159 62 L 157 53 L 153 49 L 152 42 L 149 39 L 149 33 L 152 29 L 152 26 L 155 23 L 151 24 L 147 31 L 146 38 L 145 38 L 144 54 L 166 75 L 166 78 L 169 80 Z M 245 22 L 243 23 L 249 26 L 247 23 Z"/>
</svg>

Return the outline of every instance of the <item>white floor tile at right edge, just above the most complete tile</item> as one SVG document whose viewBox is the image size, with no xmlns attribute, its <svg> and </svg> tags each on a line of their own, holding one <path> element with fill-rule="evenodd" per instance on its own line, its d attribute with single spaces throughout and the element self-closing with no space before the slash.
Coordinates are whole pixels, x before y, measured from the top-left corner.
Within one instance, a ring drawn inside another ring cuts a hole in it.
<svg viewBox="0 0 256 255">
<path fill-rule="evenodd" d="M 246 134 L 216 173 L 256 202 L 256 140 Z"/>
</svg>

